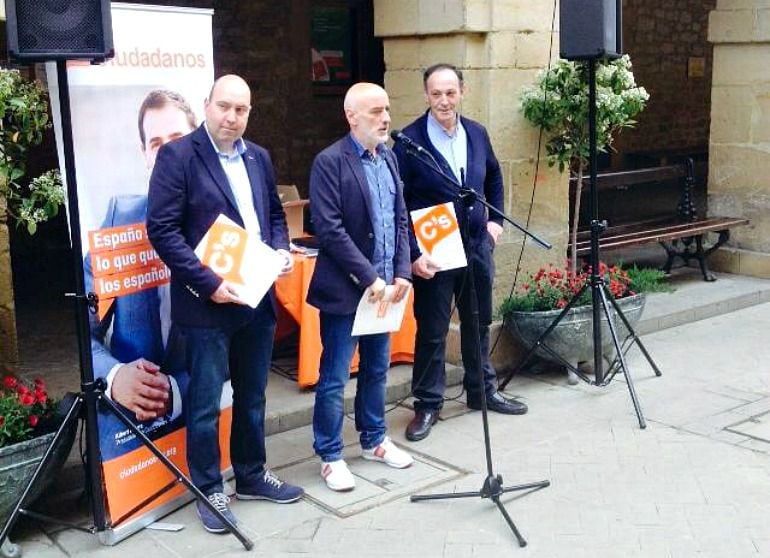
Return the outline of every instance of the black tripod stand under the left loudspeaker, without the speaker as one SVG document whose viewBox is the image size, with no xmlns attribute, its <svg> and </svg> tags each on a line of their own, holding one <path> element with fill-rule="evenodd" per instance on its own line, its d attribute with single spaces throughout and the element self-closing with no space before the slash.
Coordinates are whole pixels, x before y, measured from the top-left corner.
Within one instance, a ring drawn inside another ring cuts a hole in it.
<svg viewBox="0 0 770 558">
<path fill-rule="evenodd" d="M 77 186 L 75 178 L 75 152 L 72 141 L 72 113 L 70 111 L 69 84 L 67 79 L 66 61 L 56 62 L 57 78 L 59 85 L 59 103 L 61 110 L 62 138 L 64 147 L 64 162 L 66 166 L 67 178 L 67 200 L 69 202 L 69 221 L 70 236 L 72 240 L 72 252 L 75 265 L 75 318 L 78 336 L 78 353 L 80 359 L 80 393 L 76 394 L 72 406 L 67 411 L 64 420 L 56 431 L 53 441 L 46 449 L 42 460 L 38 464 L 31 479 L 27 483 L 19 501 L 8 517 L 8 520 L 0 532 L 0 544 L 6 540 L 9 532 L 16 523 L 19 515 L 27 515 L 34 519 L 66 525 L 87 533 L 102 534 L 108 528 L 116 527 L 125 519 L 129 518 L 159 496 L 171 490 L 177 483 L 182 483 L 195 496 L 195 498 L 204 504 L 213 514 L 215 514 L 227 526 L 227 529 L 235 535 L 247 550 L 253 548 L 254 543 L 244 535 L 241 530 L 230 522 L 222 513 L 217 510 L 206 496 L 192 484 L 192 482 L 174 465 L 155 444 L 119 409 L 112 400 L 104 394 L 107 387 L 103 379 L 94 380 L 94 370 L 91 355 L 91 332 L 89 329 L 88 312 L 95 310 L 98 303 L 94 293 L 85 293 L 85 284 L 83 279 L 83 249 L 80 240 L 80 212 L 78 208 Z M 123 425 L 129 429 L 142 444 L 152 452 L 152 454 L 174 475 L 174 479 L 167 485 L 158 490 L 155 494 L 140 502 L 133 509 L 125 513 L 122 517 L 107 520 L 105 510 L 104 494 L 102 492 L 102 469 L 101 454 L 99 451 L 99 432 L 97 426 L 97 405 L 103 405 L 114 414 Z M 91 528 L 83 528 L 78 525 L 67 523 L 56 518 L 48 517 L 25 509 L 23 506 L 27 496 L 33 487 L 41 481 L 41 472 L 51 461 L 56 448 L 63 442 L 66 433 L 74 428 L 74 422 L 78 420 L 81 414 L 85 414 L 86 430 L 86 476 L 88 479 L 87 490 L 89 490 L 91 500 L 91 512 L 94 525 Z"/>
</svg>

